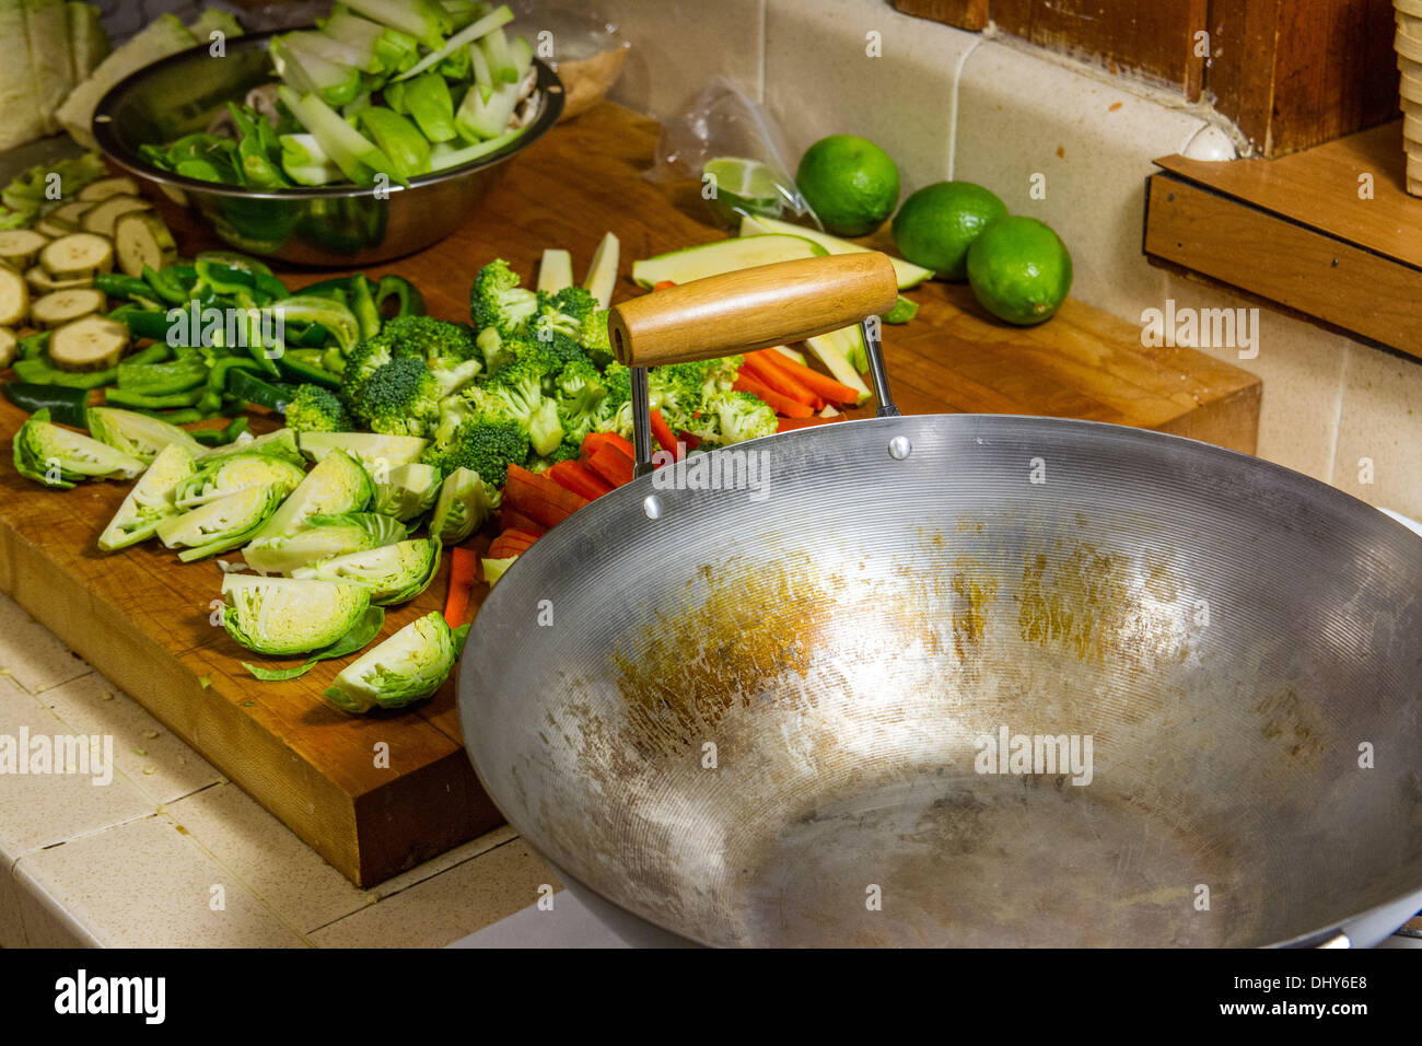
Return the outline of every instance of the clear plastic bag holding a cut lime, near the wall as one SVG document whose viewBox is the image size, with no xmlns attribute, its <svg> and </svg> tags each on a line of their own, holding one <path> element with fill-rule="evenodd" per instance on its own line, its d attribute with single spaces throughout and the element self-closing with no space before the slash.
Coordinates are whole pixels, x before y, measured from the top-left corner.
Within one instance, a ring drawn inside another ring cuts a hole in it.
<svg viewBox="0 0 1422 1046">
<path fill-rule="evenodd" d="M 793 154 L 775 117 L 732 81 L 711 77 L 691 104 L 661 125 L 651 181 L 697 179 L 718 223 L 742 216 L 808 221 L 822 228 L 791 171 Z"/>
</svg>

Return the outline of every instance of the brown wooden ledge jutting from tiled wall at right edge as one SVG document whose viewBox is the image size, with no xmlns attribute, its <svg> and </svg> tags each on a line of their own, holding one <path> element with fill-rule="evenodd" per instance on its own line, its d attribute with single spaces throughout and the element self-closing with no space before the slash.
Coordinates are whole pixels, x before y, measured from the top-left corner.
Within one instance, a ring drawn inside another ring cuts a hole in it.
<svg viewBox="0 0 1422 1046">
<path fill-rule="evenodd" d="M 1148 255 L 1422 357 L 1422 199 L 1401 121 L 1281 159 L 1156 164 Z"/>
</svg>

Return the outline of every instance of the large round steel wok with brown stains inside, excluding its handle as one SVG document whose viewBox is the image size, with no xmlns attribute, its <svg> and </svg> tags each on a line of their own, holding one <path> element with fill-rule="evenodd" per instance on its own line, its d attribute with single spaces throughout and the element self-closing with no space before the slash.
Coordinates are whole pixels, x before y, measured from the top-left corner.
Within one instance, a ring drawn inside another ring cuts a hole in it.
<svg viewBox="0 0 1422 1046">
<path fill-rule="evenodd" d="M 717 945 L 1258 945 L 1422 887 L 1422 542 L 1125 430 L 843 428 L 761 502 L 600 500 L 481 612 L 465 736 L 559 867 Z M 1003 727 L 1089 780 L 978 773 Z"/>
</svg>

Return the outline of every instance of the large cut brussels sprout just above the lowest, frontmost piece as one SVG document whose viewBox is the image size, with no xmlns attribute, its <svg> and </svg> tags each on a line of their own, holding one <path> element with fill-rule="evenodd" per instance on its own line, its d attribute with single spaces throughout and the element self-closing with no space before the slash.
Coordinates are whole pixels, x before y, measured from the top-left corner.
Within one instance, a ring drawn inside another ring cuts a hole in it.
<svg viewBox="0 0 1422 1046">
<path fill-rule="evenodd" d="M 240 497 L 240 495 L 233 495 Z M 360 585 L 229 574 L 222 579 L 222 625 L 249 650 L 310 653 L 344 636 L 370 608 Z"/>
</svg>

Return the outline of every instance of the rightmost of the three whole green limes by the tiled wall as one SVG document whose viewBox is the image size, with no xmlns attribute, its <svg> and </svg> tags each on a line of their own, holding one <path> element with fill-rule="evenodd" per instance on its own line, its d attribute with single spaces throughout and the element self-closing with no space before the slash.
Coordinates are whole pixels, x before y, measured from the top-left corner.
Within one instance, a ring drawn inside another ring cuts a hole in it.
<svg viewBox="0 0 1422 1046">
<path fill-rule="evenodd" d="M 998 218 L 968 248 L 968 283 L 984 309 L 1027 327 L 1066 300 L 1071 255 L 1045 222 Z"/>
</svg>

